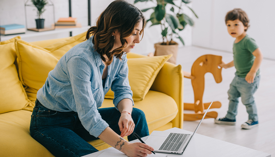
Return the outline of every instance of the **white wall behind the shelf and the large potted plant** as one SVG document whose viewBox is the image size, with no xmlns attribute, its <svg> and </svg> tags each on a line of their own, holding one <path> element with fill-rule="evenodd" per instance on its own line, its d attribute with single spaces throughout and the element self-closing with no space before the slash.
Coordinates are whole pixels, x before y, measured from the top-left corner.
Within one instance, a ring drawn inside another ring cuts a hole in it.
<svg viewBox="0 0 275 157">
<path fill-rule="evenodd" d="M 96 24 L 96 19 L 100 15 L 100 13 L 112 2 L 113 0 L 91 0 L 91 25 Z M 128 0 L 130 3 L 133 3 L 134 0 Z M 180 2 L 181 0 L 178 0 Z M 24 11 L 24 3 L 26 0 L 0 0 L 0 25 L 7 24 L 21 24 L 25 25 L 25 11 Z M 55 20 L 57 21 L 60 17 L 68 17 L 69 16 L 69 6 L 68 0 L 52 0 L 55 7 Z M 82 24 L 82 26 L 88 25 L 88 7 L 87 0 L 72 0 L 72 17 L 76 17 L 78 22 Z M 135 4 L 139 9 L 145 9 L 148 7 L 146 3 L 136 3 Z M 152 5 L 152 4 L 151 4 Z M 45 19 L 45 26 L 53 23 L 52 21 L 52 8 L 48 7 L 45 13 L 43 13 L 43 18 Z M 169 8 L 170 9 L 170 8 Z M 146 18 L 149 18 L 152 12 L 147 11 L 144 13 Z M 192 17 L 192 13 L 186 9 L 186 14 Z M 34 19 L 36 18 L 36 12 L 33 9 L 28 9 L 27 12 L 28 19 L 28 27 L 35 27 Z M 149 26 L 149 25 L 148 25 Z M 135 46 L 132 52 L 147 55 L 150 52 L 154 52 L 154 43 L 158 43 L 162 40 L 160 26 L 146 27 L 144 30 L 144 38 L 142 41 Z M 74 31 L 73 36 L 79 33 L 82 33 L 85 30 Z M 185 45 L 192 45 L 192 28 L 190 26 L 186 27 L 184 31 L 180 33 L 183 37 Z M 40 36 L 40 37 L 32 37 L 25 38 L 23 40 L 31 42 L 31 41 L 39 41 L 39 40 L 47 40 L 53 38 L 63 38 L 68 37 L 69 33 L 60 33 L 54 35 Z M 182 44 L 178 39 L 175 40 L 178 42 L 180 47 Z"/>
</svg>

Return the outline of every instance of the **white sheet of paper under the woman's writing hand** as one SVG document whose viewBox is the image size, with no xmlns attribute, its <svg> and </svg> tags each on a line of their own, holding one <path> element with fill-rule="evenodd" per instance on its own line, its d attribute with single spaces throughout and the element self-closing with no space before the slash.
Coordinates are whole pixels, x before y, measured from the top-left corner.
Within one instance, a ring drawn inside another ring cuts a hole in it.
<svg viewBox="0 0 275 157">
<path fill-rule="evenodd" d="M 166 154 L 148 154 L 148 157 L 166 157 Z M 103 153 L 101 153 L 98 157 L 127 157 L 123 152 L 111 147 L 107 148 Z"/>
</svg>

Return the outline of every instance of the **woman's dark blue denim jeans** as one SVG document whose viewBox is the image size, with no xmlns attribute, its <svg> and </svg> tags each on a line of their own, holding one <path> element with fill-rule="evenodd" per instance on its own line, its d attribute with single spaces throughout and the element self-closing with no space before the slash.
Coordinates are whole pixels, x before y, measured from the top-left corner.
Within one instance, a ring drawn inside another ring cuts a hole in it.
<svg viewBox="0 0 275 157">
<path fill-rule="evenodd" d="M 114 107 L 98 108 L 103 120 L 117 134 L 121 134 L 118 126 L 120 112 Z M 135 123 L 134 132 L 140 137 L 148 136 L 148 126 L 142 110 L 133 108 L 132 118 Z M 47 148 L 54 156 L 84 156 L 97 152 L 86 141 L 97 140 L 95 136 L 82 126 L 77 112 L 58 112 L 44 107 L 38 100 L 32 112 L 30 123 L 31 136 Z M 135 140 L 132 134 L 128 140 Z"/>
</svg>

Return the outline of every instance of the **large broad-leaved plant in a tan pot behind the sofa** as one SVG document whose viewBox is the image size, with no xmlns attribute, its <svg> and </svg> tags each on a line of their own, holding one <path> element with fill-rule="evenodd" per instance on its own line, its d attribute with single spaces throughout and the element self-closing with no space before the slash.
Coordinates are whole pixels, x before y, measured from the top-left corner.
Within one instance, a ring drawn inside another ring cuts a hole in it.
<svg viewBox="0 0 275 157">
<path fill-rule="evenodd" d="M 176 56 L 178 52 L 178 43 L 173 41 L 174 38 L 180 39 L 182 44 L 184 45 L 184 41 L 182 37 L 180 37 L 179 32 L 182 31 L 186 25 L 193 26 L 194 21 L 188 17 L 186 14 L 183 12 L 183 7 L 184 5 L 186 8 L 189 8 L 192 13 L 198 18 L 196 13 L 193 11 L 192 8 L 187 6 L 186 4 L 190 3 L 191 1 L 189 0 L 180 0 L 180 5 L 176 5 L 174 3 L 175 0 L 135 0 L 134 3 L 137 2 L 148 2 L 148 1 L 153 1 L 156 2 L 155 7 L 143 9 L 142 11 L 148 11 L 150 9 L 154 9 L 154 12 L 151 14 L 150 19 L 147 20 L 151 21 L 152 24 L 151 26 L 154 25 L 160 25 L 162 32 L 162 42 L 161 43 L 156 43 L 154 45 L 155 47 L 155 56 L 158 55 L 168 55 L 168 54 L 173 54 L 173 56 L 168 60 L 171 63 L 176 63 Z M 170 11 L 172 14 L 166 13 L 166 5 L 171 4 Z M 176 9 L 175 9 L 176 8 Z M 177 10 L 177 11 L 176 11 Z"/>
</svg>

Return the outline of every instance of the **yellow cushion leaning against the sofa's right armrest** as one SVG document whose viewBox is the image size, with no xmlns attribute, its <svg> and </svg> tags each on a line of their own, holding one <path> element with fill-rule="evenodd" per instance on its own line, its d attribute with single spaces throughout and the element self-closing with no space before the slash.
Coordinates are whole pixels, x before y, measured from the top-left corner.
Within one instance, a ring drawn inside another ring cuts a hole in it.
<svg viewBox="0 0 275 157">
<path fill-rule="evenodd" d="M 158 72 L 171 56 L 172 55 L 128 59 L 128 79 L 131 90 L 133 91 L 134 101 L 142 101 L 144 99 Z M 109 90 L 105 98 L 113 99 L 114 92 Z"/>
</svg>

